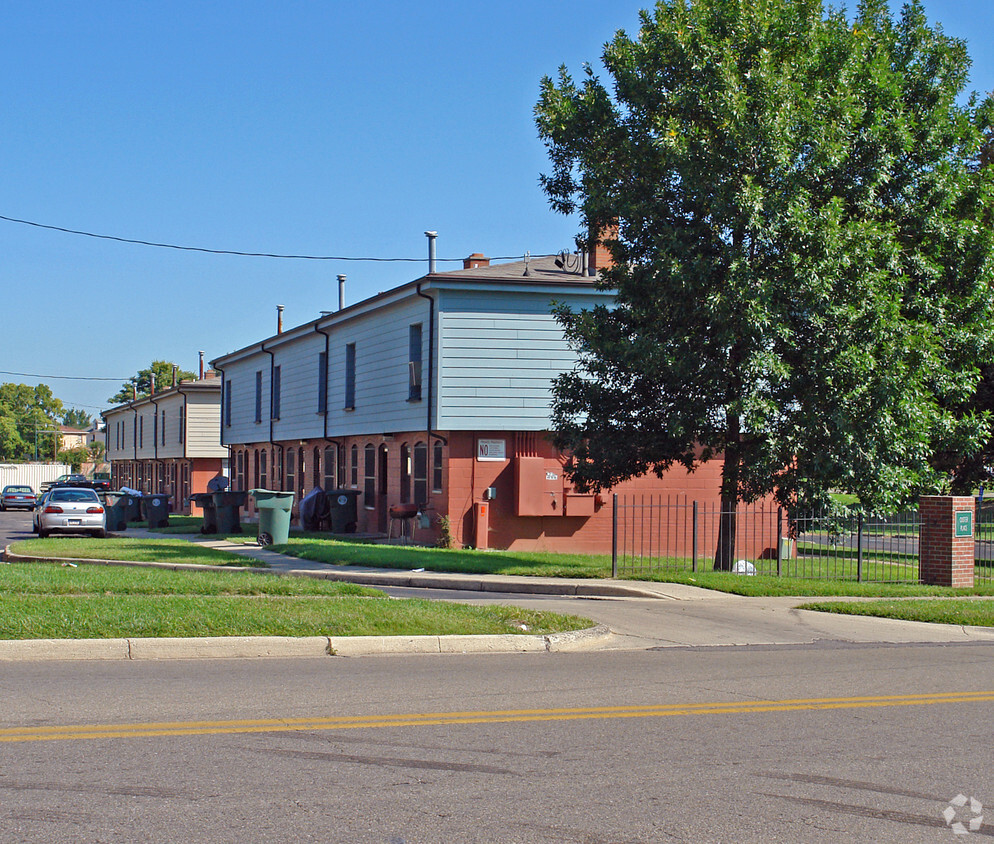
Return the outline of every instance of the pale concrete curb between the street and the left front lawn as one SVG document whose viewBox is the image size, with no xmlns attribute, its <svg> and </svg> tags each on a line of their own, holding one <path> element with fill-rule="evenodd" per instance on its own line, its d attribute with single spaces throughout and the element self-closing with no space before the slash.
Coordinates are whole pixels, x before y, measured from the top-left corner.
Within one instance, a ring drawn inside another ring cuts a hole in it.
<svg viewBox="0 0 994 844">
<path fill-rule="evenodd" d="M 548 636 L 207 636 L 129 639 L 0 640 L 0 662 L 54 660 L 273 659 L 396 654 L 544 653 L 594 648 L 613 634 L 603 625 Z"/>
</svg>

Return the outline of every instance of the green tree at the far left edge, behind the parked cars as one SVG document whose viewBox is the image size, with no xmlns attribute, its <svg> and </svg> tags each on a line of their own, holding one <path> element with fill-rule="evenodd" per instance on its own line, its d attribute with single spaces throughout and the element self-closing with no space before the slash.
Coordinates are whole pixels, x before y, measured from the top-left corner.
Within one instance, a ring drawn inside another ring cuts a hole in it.
<svg viewBox="0 0 994 844">
<path fill-rule="evenodd" d="M 47 384 L 0 384 L 0 458 L 24 460 L 37 452 L 53 459 L 62 402 Z"/>
</svg>

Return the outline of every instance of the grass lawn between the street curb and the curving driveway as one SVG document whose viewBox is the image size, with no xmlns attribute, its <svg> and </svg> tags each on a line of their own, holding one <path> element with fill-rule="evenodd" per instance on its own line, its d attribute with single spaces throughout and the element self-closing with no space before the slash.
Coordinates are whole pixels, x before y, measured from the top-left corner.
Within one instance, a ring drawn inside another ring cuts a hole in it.
<svg viewBox="0 0 994 844">
<path fill-rule="evenodd" d="M 575 616 L 394 600 L 309 578 L 0 565 L 0 639 L 545 634 L 589 626 Z"/>
</svg>

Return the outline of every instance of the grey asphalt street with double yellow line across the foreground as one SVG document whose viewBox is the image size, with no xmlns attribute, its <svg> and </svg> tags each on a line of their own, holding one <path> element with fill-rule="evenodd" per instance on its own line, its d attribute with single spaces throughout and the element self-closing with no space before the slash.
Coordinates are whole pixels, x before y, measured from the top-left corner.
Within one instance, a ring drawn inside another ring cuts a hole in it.
<svg viewBox="0 0 994 844">
<path fill-rule="evenodd" d="M 0 841 L 952 842 L 994 806 L 992 657 L 10 664 Z"/>
</svg>

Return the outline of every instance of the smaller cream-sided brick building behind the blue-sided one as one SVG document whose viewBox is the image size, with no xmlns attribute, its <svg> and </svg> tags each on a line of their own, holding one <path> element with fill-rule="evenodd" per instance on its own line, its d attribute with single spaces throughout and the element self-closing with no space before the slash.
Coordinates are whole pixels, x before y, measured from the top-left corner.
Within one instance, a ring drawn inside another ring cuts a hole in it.
<svg viewBox="0 0 994 844">
<path fill-rule="evenodd" d="M 191 493 L 227 469 L 221 445 L 221 379 L 213 372 L 104 411 L 111 484 L 165 493 L 190 512 Z M 199 512 L 199 511 L 198 511 Z"/>
</svg>

